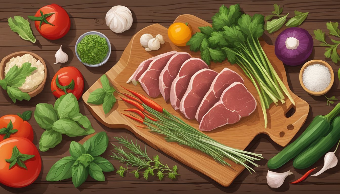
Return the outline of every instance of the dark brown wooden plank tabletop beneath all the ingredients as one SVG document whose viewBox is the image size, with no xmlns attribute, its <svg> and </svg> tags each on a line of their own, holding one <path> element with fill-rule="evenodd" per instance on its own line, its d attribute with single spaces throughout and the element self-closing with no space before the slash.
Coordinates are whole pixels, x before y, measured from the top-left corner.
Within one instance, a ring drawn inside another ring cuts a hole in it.
<svg viewBox="0 0 340 194">
<path fill-rule="evenodd" d="M 339 11 L 340 1 L 338 0 L 285 0 L 285 1 L 251 1 L 251 0 L 230 0 L 230 1 L 209 1 L 209 0 L 115 0 L 115 1 L 90 1 L 90 0 L 60 0 L 57 1 L 68 12 L 71 18 L 71 29 L 68 34 L 59 40 L 47 40 L 40 36 L 33 26 L 33 34 L 37 41 L 31 43 L 20 39 L 20 37 L 11 31 L 8 27 L 7 19 L 16 15 L 20 15 L 27 19 L 28 15 L 34 15 L 36 11 L 53 1 L 34 0 L 34 1 L 0 1 L 0 59 L 8 54 L 17 51 L 31 51 L 44 58 L 48 68 L 48 78 L 43 92 L 32 98 L 29 102 L 13 102 L 8 98 L 4 91 L 0 92 L 0 116 L 5 114 L 16 114 L 26 110 L 34 111 L 37 103 L 51 103 L 55 101 L 54 96 L 51 94 L 50 83 L 51 78 L 55 72 L 61 67 L 74 66 L 77 67 L 85 78 L 85 90 L 89 88 L 98 78 L 107 70 L 112 68 L 119 60 L 123 50 L 130 41 L 131 37 L 148 25 L 153 23 L 160 23 L 165 27 L 173 22 L 173 20 L 181 14 L 192 14 L 198 16 L 208 22 L 211 22 L 211 17 L 218 11 L 221 4 L 229 6 L 231 4 L 240 3 L 242 11 L 247 14 L 253 15 L 260 13 L 263 15 L 271 14 L 273 11 L 273 4 L 278 3 L 284 6 L 283 13 L 290 13 L 289 18 L 294 15 L 294 10 L 300 12 L 309 12 L 306 21 L 300 26 L 308 30 L 314 37 L 313 30 L 322 29 L 326 30 L 326 22 L 340 22 Z M 121 33 L 113 33 L 105 24 L 106 12 L 115 5 L 124 5 L 130 8 L 133 14 L 133 24 L 130 30 Z M 33 22 L 30 22 L 31 26 Z M 99 31 L 104 33 L 111 41 L 112 53 L 108 62 L 97 68 L 89 68 L 80 63 L 74 53 L 75 42 L 80 35 L 88 31 Z M 275 42 L 275 36 L 265 34 L 264 38 L 269 44 Z M 329 38 L 327 38 L 329 41 Z M 53 65 L 55 62 L 54 54 L 63 45 L 63 50 L 69 56 L 66 64 Z M 319 46 L 319 42 L 314 39 L 314 52 L 310 58 L 326 60 L 333 67 L 335 74 L 339 69 L 339 64 L 334 64 L 330 59 L 325 59 L 324 48 Z M 310 105 L 305 125 L 300 129 L 302 131 L 308 126 L 313 117 L 319 114 L 326 114 L 332 106 L 326 106 L 325 96 L 311 96 L 307 94 L 299 83 L 299 71 L 301 66 L 288 67 L 286 66 L 287 76 L 289 80 L 290 89 L 300 98 L 307 101 Z M 326 94 L 328 97 L 335 95 L 339 98 L 340 92 L 338 91 L 339 80 L 337 76 L 331 90 Z M 106 131 L 110 137 L 110 141 L 115 144 L 113 137 L 123 136 L 136 140 L 136 137 L 125 129 L 110 129 L 98 121 L 96 121 L 89 111 L 85 108 L 84 103 L 80 102 L 81 113 L 85 114 L 96 131 Z M 29 121 L 34 129 L 34 143 L 38 147 L 38 140 L 43 133 L 34 119 Z M 296 137 L 297 137 L 296 136 Z M 296 137 L 294 139 L 296 139 Z M 219 184 L 202 175 L 201 173 L 184 166 L 175 159 L 168 157 L 162 152 L 158 152 L 153 148 L 147 146 L 149 155 L 158 154 L 163 163 L 169 166 L 177 165 L 181 176 L 176 180 L 165 178 L 159 181 L 157 178 L 151 178 L 146 181 L 143 178 L 136 179 L 132 174 L 126 174 L 124 178 L 120 177 L 115 172 L 104 173 L 106 176 L 105 182 L 94 181 L 91 177 L 82 184 L 79 188 L 74 188 L 70 179 L 48 182 L 45 177 L 50 167 L 60 158 L 68 156 L 69 144 L 72 140 L 80 141 L 83 137 L 69 138 L 63 136 L 63 141 L 55 148 L 50 149 L 48 152 L 41 153 L 43 158 L 43 169 L 38 179 L 26 188 L 14 189 L 6 186 L 0 186 L 0 193 L 273 193 L 287 192 L 287 193 L 338 193 L 340 190 L 340 165 L 328 170 L 326 173 L 318 177 L 309 177 L 306 181 L 290 185 L 288 182 L 300 178 L 307 170 L 295 170 L 292 167 L 292 162 L 277 170 L 277 172 L 285 172 L 291 170 L 294 175 L 287 177 L 284 185 L 278 189 L 271 189 L 267 186 L 266 175 L 268 159 L 278 153 L 282 147 L 275 144 L 266 135 L 257 136 L 251 144 L 246 148 L 248 151 L 263 154 L 263 159 L 260 167 L 255 168 L 256 173 L 250 174 L 248 171 L 242 172 L 230 187 L 224 188 Z M 145 144 L 137 140 L 141 146 Z M 112 145 L 109 145 L 107 151 L 102 155 L 109 159 Z M 332 148 L 333 150 L 334 148 Z M 1 152 L 1 151 L 0 151 Z M 340 152 L 336 153 L 339 156 Z M 121 165 L 118 161 L 110 160 L 115 169 Z M 323 159 L 320 159 L 315 165 L 319 169 L 323 166 Z M 224 176 L 228 176 L 227 174 Z"/>
</svg>

